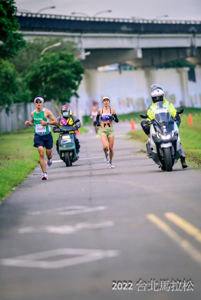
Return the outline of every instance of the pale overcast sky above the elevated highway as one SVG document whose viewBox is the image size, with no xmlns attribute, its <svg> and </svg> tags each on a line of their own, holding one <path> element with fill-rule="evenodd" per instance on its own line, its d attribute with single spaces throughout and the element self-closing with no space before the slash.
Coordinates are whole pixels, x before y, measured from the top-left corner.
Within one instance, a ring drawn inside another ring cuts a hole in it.
<svg viewBox="0 0 201 300">
<path fill-rule="evenodd" d="M 172 20 L 201 20 L 201 0 L 16 0 L 18 10 L 29 10 L 33 13 L 44 7 L 56 6 L 55 9 L 44 10 L 44 13 L 71 15 L 72 12 L 102 13 L 100 17 L 131 18 L 132 16 L 153 19 L 168 15 L 160 19 Z"/>
</svg>

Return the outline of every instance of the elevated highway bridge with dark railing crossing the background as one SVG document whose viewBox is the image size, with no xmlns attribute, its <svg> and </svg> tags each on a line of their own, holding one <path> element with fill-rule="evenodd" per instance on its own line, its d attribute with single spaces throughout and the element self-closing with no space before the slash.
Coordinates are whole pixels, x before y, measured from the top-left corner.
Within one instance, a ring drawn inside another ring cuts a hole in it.
<svg viewBox="0 0 201 300">
<path fill-rule="evenodd" d="M 78 45 L 85 69 L 127 62 L 155 67 L 175 59 L 201 63 L 201 21 L 133 20 L 17 13 L 26 39 L 61 36 Z M 85 56 L 85 51 L 91 55 Z"/>
</svg>

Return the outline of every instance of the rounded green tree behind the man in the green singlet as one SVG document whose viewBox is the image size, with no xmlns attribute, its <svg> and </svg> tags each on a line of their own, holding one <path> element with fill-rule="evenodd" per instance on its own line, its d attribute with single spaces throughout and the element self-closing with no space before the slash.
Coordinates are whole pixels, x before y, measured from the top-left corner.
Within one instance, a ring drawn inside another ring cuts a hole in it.
<svg viewBox="0 0 201 300">
<path fill-rule="evenodd" d="M 58 52 L 42 55 L 26 73 L 26 84 L 33 95 L 41 94 L 45 99 L 54 99 L 57 103 L 70 102 L 77 95 L 84 69 L 72 53 Z M 60 111 L 60 110 L 59 110 Z"/>
</svg>

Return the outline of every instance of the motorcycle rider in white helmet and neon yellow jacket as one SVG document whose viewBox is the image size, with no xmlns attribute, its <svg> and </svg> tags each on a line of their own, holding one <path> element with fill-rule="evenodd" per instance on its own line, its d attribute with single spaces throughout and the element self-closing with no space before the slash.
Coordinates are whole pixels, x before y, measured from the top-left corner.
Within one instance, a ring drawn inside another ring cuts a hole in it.
<svg viewBox="0 0 201 300">
<path fill-rule="evenodd" d="M 169 111 L 170 115 L 174 118 L 175 122 L 177 123 L 178 127 L 180 125 L 180 116 L 177 114 L 177 110 L 175 109 L 174 105 L 172 103 L 169 103 L 166 99 L 165 99 L 165 95 L 164 95 L 164 91 L 163 89 L 156 84 L 153 84 L 151 86 L 151 98 L 152 98 L 152 104 L 149 106 L 148 110 L 147 110 L 147 115 L 148 118 L 146 119 L 146 121 L 141 121 L 141 127 L 143 129 L 143 131 L 145 132 L 145 134 L 148 135 L 148 137 L 150 137 L 150 126 L 151 124 L 149 124 L 150 119 L 153 120 L 154 119 L 154 103 L 159 102 L 159 101 L 163 101 L 163 107 L 166 107 L 167 110 Z M 180 144 L 181 146 L 181 144 Z M 181 147 L 181 165 L 182 168 L 187 168 L 187 164 L 185 161 L 185 154 L 184 154 L 184 150 Z"/>
</svg>

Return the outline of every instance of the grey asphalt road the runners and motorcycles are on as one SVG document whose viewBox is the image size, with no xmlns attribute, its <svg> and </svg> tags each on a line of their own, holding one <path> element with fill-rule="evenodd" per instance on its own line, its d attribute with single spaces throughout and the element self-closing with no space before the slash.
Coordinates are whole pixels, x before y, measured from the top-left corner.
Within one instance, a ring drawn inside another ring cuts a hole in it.
<svg viewBox="0 0 201 300">
<path fill-rule="evenodd" d="M 1 300 L 200 299 L 200 169 L 163 172 L 115 130 L 114 169 L 90 127 L 72 167 L 54 149 L 0 206 Z"/>
</svg>

